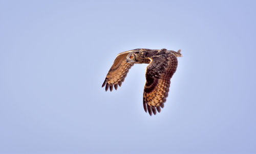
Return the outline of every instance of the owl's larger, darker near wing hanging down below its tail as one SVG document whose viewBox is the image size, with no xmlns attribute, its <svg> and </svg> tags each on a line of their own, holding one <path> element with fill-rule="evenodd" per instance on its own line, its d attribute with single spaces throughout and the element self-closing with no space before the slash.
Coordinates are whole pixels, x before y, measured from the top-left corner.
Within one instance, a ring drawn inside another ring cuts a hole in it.
<svg viewBox="0 0 256 154">
<path fill-rule="evenodd" d="M 150 115 L 164 107 L 168 96 L 170 78 L 176 71 L 178 60 L 173 54 L 151 58 L 146 68 L 146 83 L 143 94 L 143 107 Z M 161 107 L 161 108 L 160 108 Z"/>
</svg>

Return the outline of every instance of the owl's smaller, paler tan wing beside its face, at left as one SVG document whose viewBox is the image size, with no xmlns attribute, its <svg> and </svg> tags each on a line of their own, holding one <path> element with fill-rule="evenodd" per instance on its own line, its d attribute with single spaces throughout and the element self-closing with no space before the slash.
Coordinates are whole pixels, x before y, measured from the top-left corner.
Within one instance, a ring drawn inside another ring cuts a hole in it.
<svg viewBox="0 0 256 154">
<path fill-rule="evenodd" d="M 113 86 L 117 90 L 117 85 L 121 86 L 126 74 L 128 73 L 129 69 L 134 65 L 131 63 L 126 63 L 126 56 L 133 52 L 133 50 L 123 52 L 117 55 L 113 65 L 111 66 L 108 74 L 106 75 L 105 81 L 102 84 L 102 87 L 105 85 L 105 90 L 107 91 L 110 88 L 112 91 Z"/>
</svg>

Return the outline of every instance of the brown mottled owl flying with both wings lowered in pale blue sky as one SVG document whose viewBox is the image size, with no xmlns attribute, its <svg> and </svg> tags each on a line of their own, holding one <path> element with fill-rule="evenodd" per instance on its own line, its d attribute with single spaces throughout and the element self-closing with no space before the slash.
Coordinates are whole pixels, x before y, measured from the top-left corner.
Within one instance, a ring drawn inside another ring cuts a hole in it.
<svg viewBox="0 0 256 154">
<path fill-rule="evenodd" d="M 102 87 L 105 86 L 105 91 L 108 91 L 108 89 L 112 91 L 113 87 L 117 90 L 118 86 L 121 87 L 129 69 L 134 64 L 148 64 L 145 73 L 143 108 L 145 112 L 148 111 L 150 116 L 152 116 L 152 113 L 156 115 L 164 107 L 170 79 L 178 66 L 177 57 L 182 57 L 180 52 L 180 49 L 175 52 L 165 48 L 137 48 L 120 53 L 106 75 Z"/>
</svg>

